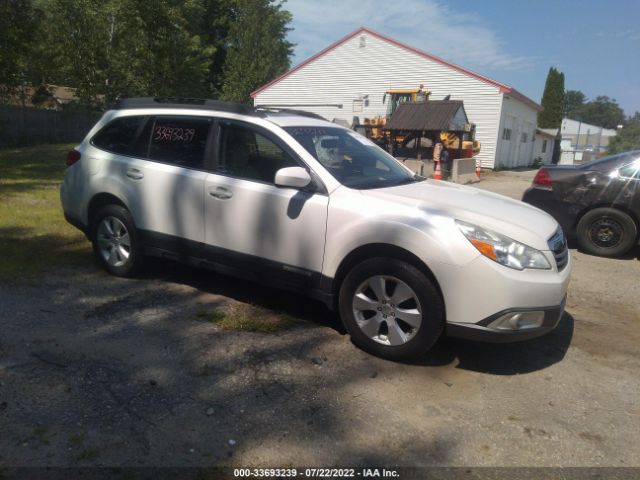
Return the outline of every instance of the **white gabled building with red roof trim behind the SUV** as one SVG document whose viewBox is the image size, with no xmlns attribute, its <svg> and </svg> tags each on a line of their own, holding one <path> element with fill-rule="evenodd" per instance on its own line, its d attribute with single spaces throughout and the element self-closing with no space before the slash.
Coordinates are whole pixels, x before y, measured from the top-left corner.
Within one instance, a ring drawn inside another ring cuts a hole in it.
<svg viewBox="0 0 640 480">
<path fill-rule="evenodd" d="M 533 162 L 540 106 L 516 89 L 360 28 L 251 94 L 256 106 L 304 109 L 352 124 L 385 115 L 384 92 L 424 85 L 432 100 L 463 100 L 482 142 L 481 165 Z"/>
</svg>

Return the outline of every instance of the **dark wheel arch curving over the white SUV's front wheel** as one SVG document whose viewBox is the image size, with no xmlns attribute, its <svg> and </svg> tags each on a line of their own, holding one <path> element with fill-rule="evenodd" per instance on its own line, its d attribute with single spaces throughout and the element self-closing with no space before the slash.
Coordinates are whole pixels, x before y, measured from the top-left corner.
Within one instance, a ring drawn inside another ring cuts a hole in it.
<svg viewBox="0 0 640 480">
<path fill-rule="evenodd" d="M 442 300 L 442 305 L 445 307 L 444 303 L 444 295 L 442 294 L 442 289 L 440 288 L 440 283 L 438 279 L 433 274 L 429 266 L 423 262 L 418 256 L 414 253 L 406 250 L 402 247 L 398 247 L 397 245 L 392 245 L 388 243 L 370 243 L 367 245 L 361 245 L 351 252 L 349 252 L 344 259 L 340 262 L 338 269 L 336 270 L 336 275 L 332 280 L 330 280 L 330 291 L 333 293 L 334 298 L 334 308 L 337 307 L 338 301 L 338 292 L 340 291 L 340 286 L 344 278 L 347 276 L 347 273 L 355 267 L 358 263 L 363 262 L 369 258 L 376 257 L 384 257 L 384 258 L 394 258 L 396 260 L 402 260 L 410 265 L 413 265 L 418 270 L 420 270 L 436 287 L 438 294 L 440 295 L 440 299 Z M 337 311 L 337 310 L 336 310 Z M 445 310 L 445 318 L 446 318 L 446 310 Z"/>
</svg>

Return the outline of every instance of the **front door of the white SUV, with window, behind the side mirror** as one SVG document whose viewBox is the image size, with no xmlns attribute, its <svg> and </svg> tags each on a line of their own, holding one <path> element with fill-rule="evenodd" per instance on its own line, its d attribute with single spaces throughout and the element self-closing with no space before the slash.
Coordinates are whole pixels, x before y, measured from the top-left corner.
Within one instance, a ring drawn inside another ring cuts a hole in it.
<svg viewBox="0 0 640 480">
<path fill-rule="evenodd" d="M 317 286 L 329 197 L 274 184 L 304 166 L 275 134 L 220 120 L 216 165 L 205 182 L 205 242 L 213 258 L 262 279 Z"/>
</svg>

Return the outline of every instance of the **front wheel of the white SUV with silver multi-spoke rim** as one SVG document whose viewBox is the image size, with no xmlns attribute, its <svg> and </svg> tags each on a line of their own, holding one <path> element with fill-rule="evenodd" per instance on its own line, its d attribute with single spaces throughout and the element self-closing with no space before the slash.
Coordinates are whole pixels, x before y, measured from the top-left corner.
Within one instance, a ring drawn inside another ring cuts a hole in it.
<svg viewBox="0 0 640 480">
<path fill-rule="evenodd" d="M 356 345 L 393 360 L 425 354 L 444 329 L 436 287 L 400 260 L 373 258 L 353 268 L 340 288 L 339 308 Z"/>
</svg>

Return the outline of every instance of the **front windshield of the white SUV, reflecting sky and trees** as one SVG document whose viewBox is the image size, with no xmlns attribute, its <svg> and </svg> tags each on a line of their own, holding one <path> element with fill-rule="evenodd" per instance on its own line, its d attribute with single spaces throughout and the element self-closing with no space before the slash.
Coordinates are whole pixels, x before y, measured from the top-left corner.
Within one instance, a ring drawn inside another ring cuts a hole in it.
<svg viewBox="0 0 640 480">
<path fill-rule="evenodd" d="M 371 140 L 344 128 L 285 127 L 336 180 L 355 189 L 384 188 L 424 180 L 407 171 Z"/>
</svg>

